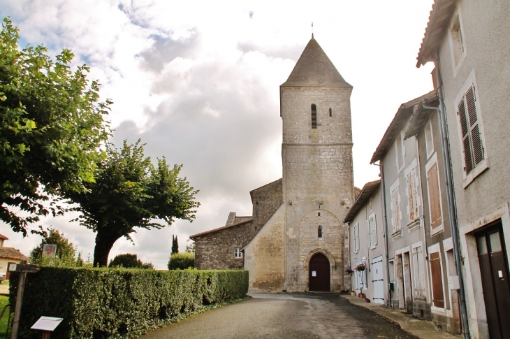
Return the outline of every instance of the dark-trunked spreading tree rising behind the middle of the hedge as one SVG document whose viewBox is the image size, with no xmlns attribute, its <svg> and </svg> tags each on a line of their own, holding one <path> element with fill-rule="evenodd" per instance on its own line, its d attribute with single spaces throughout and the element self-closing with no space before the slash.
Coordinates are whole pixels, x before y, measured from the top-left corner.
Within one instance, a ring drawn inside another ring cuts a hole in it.
<svg viewBox="0 0 510 339">
<path fill-rule="evenodd" d="M 144 157 L 140 140 L 122 150 L 106 145 L 106 156 L 97 164 L 95 182 L 86 182 L 87 192 L 69 192 L 78 203 L 80 223 L 96 232 L 94 266 L 106 266 L 113 244 L 122 236 L 131 240 L 136 227 L 161 229 L 175 218 L 190 222 L 200 203 L 187 178 L 179 178 L 182 165 L 170 168 L 166 159 L 154 166 Z M 164 222 L 164 224 L 163 224 Z"/>
</svg>

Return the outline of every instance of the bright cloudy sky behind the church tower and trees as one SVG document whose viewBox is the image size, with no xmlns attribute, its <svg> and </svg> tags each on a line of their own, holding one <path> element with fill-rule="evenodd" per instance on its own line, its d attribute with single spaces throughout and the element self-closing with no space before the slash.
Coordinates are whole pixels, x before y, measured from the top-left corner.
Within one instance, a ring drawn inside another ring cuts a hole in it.
<svg viewBox="0 0 510 339">
<path fill-rule="evenodd" d="M 377 180 L 370 159 L 400 104 L 432 90 L 433 66 L 416 68 L 432 2 L 0 0 L 0 16 L 20 29 L 22 47 L 68 48 L 73 66 L 90 66 L 101 98 L 114 102 L 116 145 L 141 138 L 154 161 L 184 165 L 182 176 L 200 190 L 194 222 L 138 230 L 134 243 L 122 238 L 110 252 L 166 269 L 173 235 L 184 251 L 190 235 L 224 226 L 228 212 L 251 215 L 249 192 L 282 177 L 279 85 L 312 29 L 354 87 L 354 184 Z M 95 233 L 74 217 L 38 224 L 92 257 Z M 6 224 L 0 233 L 26 255 L 41 242 Z"/>
</svg>

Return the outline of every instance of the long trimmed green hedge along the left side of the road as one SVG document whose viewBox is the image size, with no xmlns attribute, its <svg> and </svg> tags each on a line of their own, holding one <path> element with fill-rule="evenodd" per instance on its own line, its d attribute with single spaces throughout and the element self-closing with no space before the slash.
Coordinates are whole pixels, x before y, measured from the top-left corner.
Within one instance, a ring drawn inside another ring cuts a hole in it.
<svg viewBox="0 0 510 339">
<path fill-rule="evenodd" d="M 10 275 L 10 302 L 18 275 Z M 52 338 L 132 338 L 206 305 L 244 298 L 248 271 L 147 271 L 43 267 L 27 274 L 18 338 L 45 315 L 64 321 Z"/>
</svg>

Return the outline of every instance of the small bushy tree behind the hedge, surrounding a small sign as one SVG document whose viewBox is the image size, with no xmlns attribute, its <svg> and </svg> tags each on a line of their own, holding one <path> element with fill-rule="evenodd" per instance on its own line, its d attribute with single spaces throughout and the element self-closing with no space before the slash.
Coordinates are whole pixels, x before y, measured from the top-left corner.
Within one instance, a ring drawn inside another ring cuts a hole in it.
<svg viewBox="0 0 510 339">
<path fill-rule="evenodd" d="M 64 233 L 60 233 L 57 229 L 49 228 L 48 231 L 45 231 L 42 227 L 40 227 L 41 235 L 43 239 L 41 240 L 41 245 L 34 247 L 34 250 L 30 252 L 30 261 L 33 264 L 42 264 L 43 259 L 43 247 L 45 244 L 48 245 L 57 245 L 57 253 L 55 256 L 61 261 L 69 262 L 70 264 L 74 263 L 76 256 L 76 249 L 73 243 L 70 243 L 68 238 L 64 236 Z"/>
</svg>

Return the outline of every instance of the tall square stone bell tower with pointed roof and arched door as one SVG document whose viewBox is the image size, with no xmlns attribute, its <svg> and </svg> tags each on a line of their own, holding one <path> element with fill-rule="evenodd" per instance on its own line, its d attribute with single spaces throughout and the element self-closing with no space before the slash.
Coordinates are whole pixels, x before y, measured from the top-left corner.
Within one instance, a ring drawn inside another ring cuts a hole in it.
<svg viewBox="0 0 510 339">
<path fill-rule="evenodd" d="M 354 202 L 351 92 L 313 35 L 280 86 L 287 291 L 344 289 L 342 220 Z"/>
</svg>

